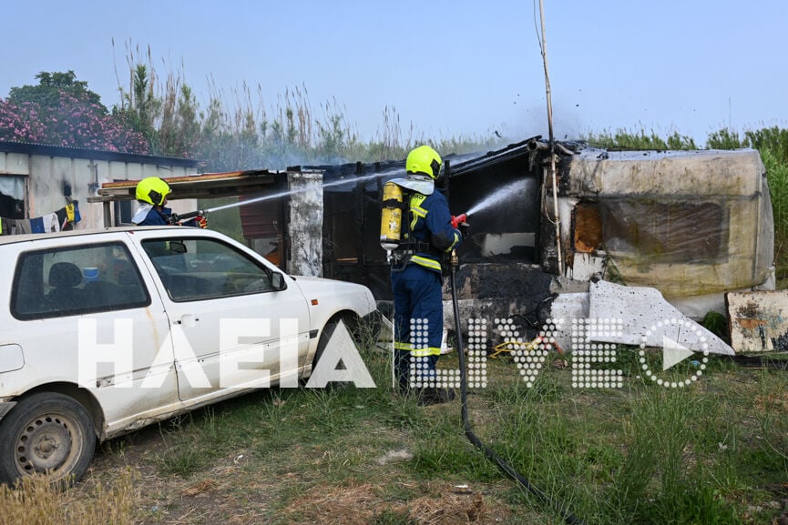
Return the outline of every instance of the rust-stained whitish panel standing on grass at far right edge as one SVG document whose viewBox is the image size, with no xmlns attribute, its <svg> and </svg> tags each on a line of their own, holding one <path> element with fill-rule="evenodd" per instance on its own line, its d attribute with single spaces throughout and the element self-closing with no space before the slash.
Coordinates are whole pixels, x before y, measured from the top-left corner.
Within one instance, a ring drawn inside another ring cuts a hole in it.
<svg viewBox="0 0 788 525">
<path fill-rule="evenodd" d="M 737 352 L 788 350 L 788 290 L 725 294 Z"/>
</svg>

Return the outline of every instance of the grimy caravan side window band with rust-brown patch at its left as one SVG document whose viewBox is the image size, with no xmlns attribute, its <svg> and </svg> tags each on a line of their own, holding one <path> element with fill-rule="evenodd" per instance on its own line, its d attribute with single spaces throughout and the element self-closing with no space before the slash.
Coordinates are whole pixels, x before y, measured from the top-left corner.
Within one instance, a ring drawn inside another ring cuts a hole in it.
<svg viewBox="0 0 788 525">
<path fill-rule="evenodd" d="M 705 264 L 727 258 L 728 217 L 714 202 L 619 197 L 575 207 L 576 252 L 604 249 L 645 264 Z"/>
</svg>

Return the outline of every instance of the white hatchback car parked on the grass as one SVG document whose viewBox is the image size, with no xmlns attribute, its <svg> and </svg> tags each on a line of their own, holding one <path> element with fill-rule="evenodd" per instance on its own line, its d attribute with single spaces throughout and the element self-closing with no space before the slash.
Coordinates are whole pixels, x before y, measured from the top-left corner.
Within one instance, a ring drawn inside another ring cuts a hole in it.
<svg viewBox="0 0 788 525">
<path fill-rule="evenodd" d="M 376 310 L 200 228 L 4 236 L 0 261 L 0 483 L 76 480 L 97 439 L 297 387 L 339 319 Z"/>
</svg>

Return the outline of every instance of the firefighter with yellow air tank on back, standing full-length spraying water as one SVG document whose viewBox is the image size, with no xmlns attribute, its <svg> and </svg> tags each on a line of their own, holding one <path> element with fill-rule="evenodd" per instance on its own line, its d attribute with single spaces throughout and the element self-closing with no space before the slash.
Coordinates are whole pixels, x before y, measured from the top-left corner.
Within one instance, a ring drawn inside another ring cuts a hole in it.
<svg viewBox="0 0 788 525">
<path fill-rule="evenodd" d="M 459 246 L 463 234 L 452 226 L 446 197 L 435 191 L 441 164 L 435 149 L 416 147 L 405 161 L 406 177 L 394 180 L 404 188 L 408 213 L 403 220 L 409 221 L 403 225 L 406 238 L 394 250 L 391 272 L 394 367 L 401 391 L 414 387 L 415 376 L 421 405 L 454 399 L 454 390 L 440 385 L 435 365 L 444 331 L 441 262 Z"/>
</svg>

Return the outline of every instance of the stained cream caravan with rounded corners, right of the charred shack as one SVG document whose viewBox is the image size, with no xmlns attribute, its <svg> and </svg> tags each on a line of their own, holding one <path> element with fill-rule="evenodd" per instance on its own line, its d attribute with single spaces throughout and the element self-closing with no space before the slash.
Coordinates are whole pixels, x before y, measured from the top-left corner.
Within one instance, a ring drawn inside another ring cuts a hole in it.
<svg viewBox="0 0 788 525">
<path fill-rule="evenodd" d="M 576 145 L 560 157 L 566 277 L 656 288 L 690 318 L 724 313 L 726 292 L 774 288 L 772 202 L 757 151 Z M 550 193 L 545 200 L 553 209 Z"/>
</svg>

